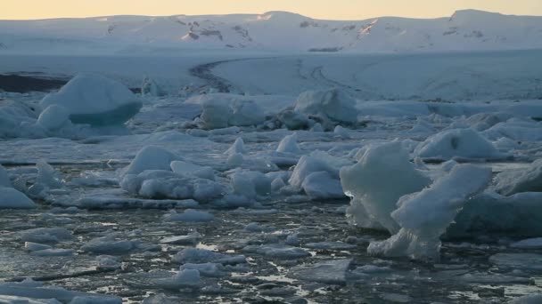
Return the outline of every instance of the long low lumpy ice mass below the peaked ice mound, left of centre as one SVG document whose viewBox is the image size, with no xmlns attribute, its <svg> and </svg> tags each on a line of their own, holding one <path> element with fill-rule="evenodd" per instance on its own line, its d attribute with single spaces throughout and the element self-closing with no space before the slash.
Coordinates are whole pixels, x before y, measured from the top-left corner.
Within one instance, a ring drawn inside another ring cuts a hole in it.
<svg viewBox="0 0 542 304">
<path fill-rule="evenodd" d="M 198 202 L 220 197 L 224 190 L 221 184 L 213 180 L 162 170 L 127 174 L 120 181 L 120 187 L 133 196 L 181 200 L 193 198 Z"/>
</svg>

